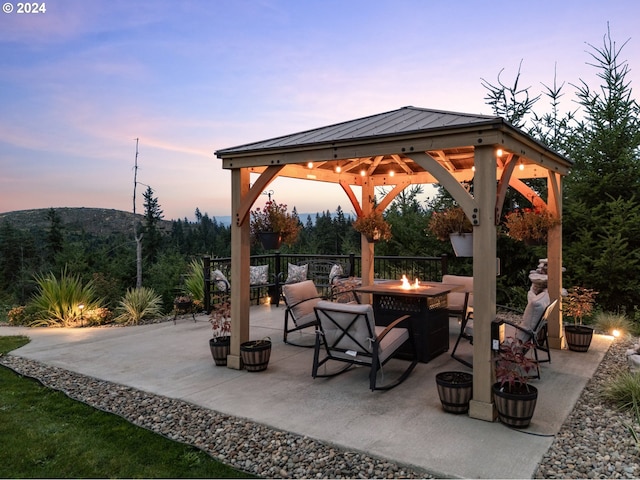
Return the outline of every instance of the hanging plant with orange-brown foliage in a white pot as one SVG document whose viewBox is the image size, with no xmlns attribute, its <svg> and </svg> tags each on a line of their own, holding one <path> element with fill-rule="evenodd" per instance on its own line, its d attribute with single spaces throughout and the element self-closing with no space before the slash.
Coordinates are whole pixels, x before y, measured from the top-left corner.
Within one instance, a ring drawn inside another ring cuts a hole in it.
<svg viewBox="0 0 640 480">
<path fill-rule="evenodd" d="M 438 240 L 451 241 L 456 256 L 473 256 L 473 225 L 461 207 L 434 211 L 429 219 L 428 230 Z"/>
</svg>

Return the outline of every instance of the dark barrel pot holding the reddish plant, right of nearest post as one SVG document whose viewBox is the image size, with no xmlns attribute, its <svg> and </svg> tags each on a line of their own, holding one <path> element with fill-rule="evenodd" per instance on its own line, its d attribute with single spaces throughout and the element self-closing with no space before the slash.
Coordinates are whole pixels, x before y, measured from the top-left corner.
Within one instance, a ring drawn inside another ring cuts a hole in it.
<svg viewBox="0 0 640 480">
<path fill-rule="evenodd" d="M 521 383 L 516 383 L 513 387 L 503 387 L 497 382 L 493 384 L 492 390 L 500 421 L 510 427 L 528 427 L 536 409 L 538 389 Z"/>
</svg>

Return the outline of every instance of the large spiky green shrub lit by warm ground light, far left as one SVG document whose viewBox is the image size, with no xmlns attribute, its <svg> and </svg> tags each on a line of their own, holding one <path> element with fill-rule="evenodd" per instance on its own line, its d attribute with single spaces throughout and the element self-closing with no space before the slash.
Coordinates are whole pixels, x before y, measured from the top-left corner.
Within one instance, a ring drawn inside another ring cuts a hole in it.
<svg viewBox="0 0 640 480">
<path fill-rule="evenodd" d="M 84 323 L 84 312 L 101 308 L 91 281 L 82 284 L 79 276 L 62 271 L 60 278 L 49 273 L 36 275 L 38 290 L 27 305 L 34 311 L 31 326 L 72 327 Z"/>
</svg>

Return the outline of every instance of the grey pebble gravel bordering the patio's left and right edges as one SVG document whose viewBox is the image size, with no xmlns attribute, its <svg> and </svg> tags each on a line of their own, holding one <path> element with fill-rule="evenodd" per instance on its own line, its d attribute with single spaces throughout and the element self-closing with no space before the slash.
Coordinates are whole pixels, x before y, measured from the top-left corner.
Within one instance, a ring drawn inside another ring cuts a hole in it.
<svg viewBox="0 0 640 480">
<path fill-rule="evenodd" d="M 632 341 L 615 341 L 542 458 L 534 478 L 640 478 L 640 436 L 630 413 L 605 404 L 603 386 L 627 369 Z M 578 353 L 576 353 L 579 355 Z M 214 458 L 267 478 L 433 478 L 363 452 L 217 413 L 40 362 L 7 355 L 0 363 L 47 387 Z"/>
</svg>

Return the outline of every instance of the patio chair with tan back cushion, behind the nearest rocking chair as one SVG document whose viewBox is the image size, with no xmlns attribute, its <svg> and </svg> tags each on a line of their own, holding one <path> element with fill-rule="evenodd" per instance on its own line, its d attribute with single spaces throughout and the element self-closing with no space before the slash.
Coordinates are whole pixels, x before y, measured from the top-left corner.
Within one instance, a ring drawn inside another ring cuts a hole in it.
<svg viewBox="0 0 640 480">
<path fill-rule="evenodd" d="M 317 324 L 313 307 L 322 300 L 322 297 L 318 295 L 315 283 L 313 280 L 305 280 L 298 283 L 285 284 L 282 286 L 282 296 L 287 307 L 284 312 L 282 340 L 284 343 L 297 347 L 313 347 L 313 342 L 309 345 L 291 342 L 288 340 L 288 335 L 292 332 L 314 327 Z"/>
</svg>

